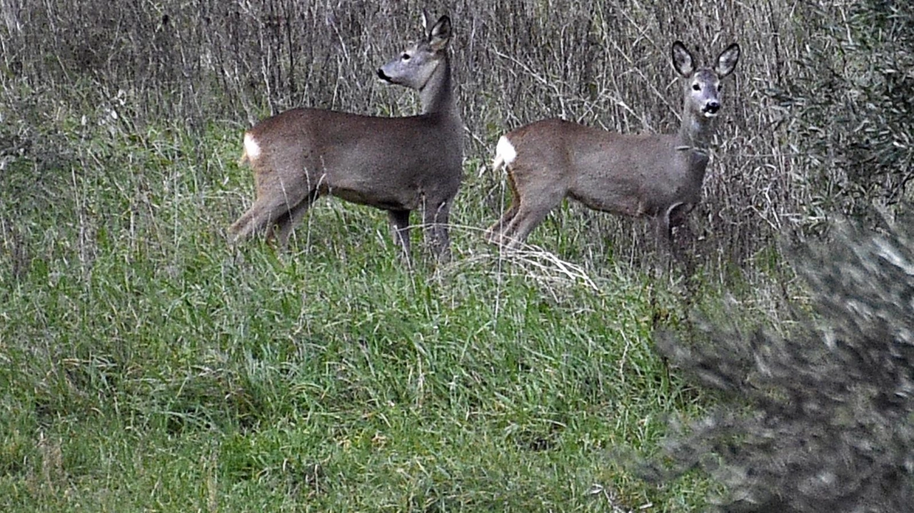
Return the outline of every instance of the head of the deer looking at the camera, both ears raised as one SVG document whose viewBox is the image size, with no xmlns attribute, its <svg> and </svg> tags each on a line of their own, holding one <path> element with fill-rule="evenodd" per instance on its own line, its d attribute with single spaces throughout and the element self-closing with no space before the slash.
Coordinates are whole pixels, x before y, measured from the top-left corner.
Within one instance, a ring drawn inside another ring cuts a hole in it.
<svg viewBox="0 0 914 513">
<path fill-rule="evenodd" d="M 733 43 L 717 57 L 714 68 L 696 68 L 696 60 L 681 42 L 673 43 L 673 67 L 685 79 L 685 105 L 696 116 L 713 118 L 720 110 L 720 80 L 733 72 L 739 45 Z"/>
</svg>

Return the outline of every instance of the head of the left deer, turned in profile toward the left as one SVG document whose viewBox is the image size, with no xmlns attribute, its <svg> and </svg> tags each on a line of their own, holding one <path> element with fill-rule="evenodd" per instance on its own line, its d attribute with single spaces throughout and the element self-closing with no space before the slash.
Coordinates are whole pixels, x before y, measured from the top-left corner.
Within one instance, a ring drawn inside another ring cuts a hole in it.
<svg viewBox="0 0 914 513">
<path fill-rule="evenodd" d="M 428 18 L 422 15 L 423 26 Z M 425 39 L 411 45 L 399 55 L 377 69 L 377 77 L 389 84 L 398 84 L 409 89 L 422 90 L 443 62 L 448 41 L 451 40 L 451 18 L 441 16 L 431 27 Z"/>
</svg>

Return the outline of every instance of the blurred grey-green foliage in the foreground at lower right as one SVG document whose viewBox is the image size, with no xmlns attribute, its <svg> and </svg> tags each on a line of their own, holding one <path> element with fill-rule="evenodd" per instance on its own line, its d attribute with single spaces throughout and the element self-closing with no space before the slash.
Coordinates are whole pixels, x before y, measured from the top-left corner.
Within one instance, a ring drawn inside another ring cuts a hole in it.
<svg viewBox="0 0 914 513">
<path fill-rule="evenodd" d="M 902 512 L 914 501 L 914 231 L 838 225 L 795 258 L 813 314 L 787 337 L 705 323 L 659 350 L 724 401 L 676 424 L 673 475 L 700 466 L 721 511 Z M 719 323 L 718 323 L 719 324 Z M 669 478 L 656 466 L 653 478 Z"/>
</svg>

